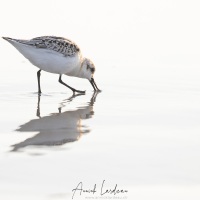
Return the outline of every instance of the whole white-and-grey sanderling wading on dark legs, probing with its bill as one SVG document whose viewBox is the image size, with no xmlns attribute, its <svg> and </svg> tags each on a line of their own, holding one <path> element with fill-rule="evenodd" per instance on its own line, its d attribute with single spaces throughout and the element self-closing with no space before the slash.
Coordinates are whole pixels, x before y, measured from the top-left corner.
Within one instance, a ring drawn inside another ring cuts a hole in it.
<svg viewBox="0 0 200 200">
<path fill-rule="evenodd" d="M 94 81 L 95 66 L 93 62 L 82 57 L 80 48 L 71 40 L 63 37 L 42 36 L 31 40 L 13 39 L 3 37 L 11 43 L 25 58 L 39 68 L 37 72 L 38 93 L 41 93 L 41 71 L 59 74 L 59 82 L 73 91 L 73 93 L 85 93 L 76 90 L 61 79 L 62 75 L 86 78 L 90 81 L 95 91 L 100 91 Z"/>
</svg>

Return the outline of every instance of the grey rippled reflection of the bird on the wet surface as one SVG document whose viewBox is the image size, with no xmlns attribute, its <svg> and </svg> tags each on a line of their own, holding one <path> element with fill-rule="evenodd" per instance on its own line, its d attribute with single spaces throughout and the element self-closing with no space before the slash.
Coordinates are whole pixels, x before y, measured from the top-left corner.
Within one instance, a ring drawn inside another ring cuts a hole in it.
<svg viewBox="0 0 200 200">
<path fill-rule="evenodd" d="M 68 142 L 74 142 L 78 140 L 82 134 L 89 133 L 90 130 L 87 127 L 81 125 L 81 119 L 88 119 L 94 115 L 93 106 L 96 101 L 97 92 L 93 93 L 90 102 L 86 106 L 77 108 L 73 111 L 62 112 L 62 108 L 65 107 L 66 101 L 73 101 L 74 98 L 84 95 L 76 94 L 61 103 L 57 113 L 53 113 L 49 116 L 40 116 L 40 98 L 38 95 L 37 113 L 39 119 L 33 119 L 20 126 L 16 131 L 19 132 L 38 132 L 32 138 L 28 138 L 23 142 L 13 145 L 12 151 L 18 151 L 19 149 L 28 146 L 55 146 L 63 145 Z"/>
</svg>

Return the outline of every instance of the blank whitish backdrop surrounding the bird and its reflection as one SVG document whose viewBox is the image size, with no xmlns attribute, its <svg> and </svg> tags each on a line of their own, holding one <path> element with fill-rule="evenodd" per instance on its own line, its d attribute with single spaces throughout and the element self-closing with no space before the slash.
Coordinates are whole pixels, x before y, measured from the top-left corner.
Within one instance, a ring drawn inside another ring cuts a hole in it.
<svg viewBox="0 0 200 200">
<path fill-rule="evenodd" d="M 72 39 L 103 92 L 79 141 L 11 152 L 38 133 L 15 131 L 38 119 L 37 69 L 0 39 L 0 199 L 71 199 L 78 182 L 104 179 L 130 200 L 200 199 L 199 10 L 197 0 L 1 0 L 0 36 Z M 64 80 L 87 94 L 68 102 L 58 76 L 43 72 L 42 117 L 64 104 L 69 121 L 88 106 L 90 84 Z"/>
</svg>

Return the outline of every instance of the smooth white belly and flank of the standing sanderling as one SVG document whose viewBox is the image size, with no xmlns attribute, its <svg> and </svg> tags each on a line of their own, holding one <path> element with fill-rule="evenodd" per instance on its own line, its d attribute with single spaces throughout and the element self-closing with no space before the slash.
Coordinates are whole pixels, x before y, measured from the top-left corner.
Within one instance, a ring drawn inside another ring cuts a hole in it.
<svg viewBox="0 0 200 200">
<path fill-rule="evenodd" d="M 13 42 L 12 45 L 36 67 L 56 74 L 71 74 L 80 67 L 80 55 L 66 57 L 49 49 Z"/>
</svg>

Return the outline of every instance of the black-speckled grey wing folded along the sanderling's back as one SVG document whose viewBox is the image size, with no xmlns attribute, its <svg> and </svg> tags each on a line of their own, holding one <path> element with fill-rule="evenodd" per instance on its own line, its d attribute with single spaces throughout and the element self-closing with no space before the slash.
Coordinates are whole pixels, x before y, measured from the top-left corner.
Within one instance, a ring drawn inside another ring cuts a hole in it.
<svg viewBox="0 0 200 200">
<path fill-rule="evenodd" d="M 53 50 L 64 56 L 73 56 L 80 52 L 79 47 L 74 42 L 63 37 L 42 36 L 31 40 L 18 40 L 18 42 L 35 46 L 36 48 Z"/>
</svg>

